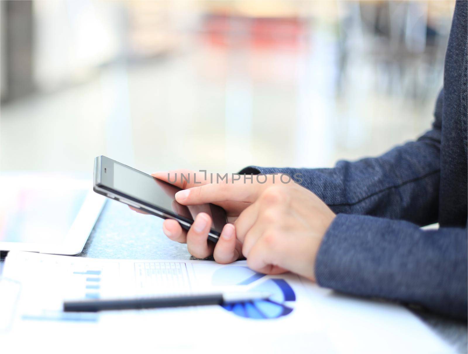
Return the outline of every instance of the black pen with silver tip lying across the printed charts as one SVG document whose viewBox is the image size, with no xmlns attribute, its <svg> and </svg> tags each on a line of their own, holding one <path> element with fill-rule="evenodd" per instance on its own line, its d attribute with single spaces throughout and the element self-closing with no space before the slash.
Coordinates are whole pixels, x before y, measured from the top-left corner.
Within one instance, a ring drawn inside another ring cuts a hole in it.
<svg viewBox="0 0 468 354">
<path fill-rule="evenodd" d="M 270 296 L 270 293 L 264 292 L 244 292 L 65 301 L 63 303 L 63 310 L 65 312 L 97 312 L 104 310 L 139 310 L 180 306 L 222 305 L 234 302 L 264 300 L 268 299 Z"/>
</svg>

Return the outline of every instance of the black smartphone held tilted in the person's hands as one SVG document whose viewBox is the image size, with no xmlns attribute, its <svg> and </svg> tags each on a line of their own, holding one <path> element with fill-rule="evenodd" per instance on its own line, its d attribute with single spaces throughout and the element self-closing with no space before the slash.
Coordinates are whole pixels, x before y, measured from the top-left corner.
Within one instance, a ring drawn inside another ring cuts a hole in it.
<svg viewBox="0 0 468 354">
<path fill-rule="evenodd" d="M 95 158 L 93 189 L 96 193 L 146 213 L 177 220 L 187 230 L 198 213 L 206 213 L 212 218 L 208 239 L 215 243 L 227 223 L 226 212 L 220 206 L 211 203 L 193 206 L 179 204 L 175 194 L 182 189 L 106 156 Z"/>
</svg>

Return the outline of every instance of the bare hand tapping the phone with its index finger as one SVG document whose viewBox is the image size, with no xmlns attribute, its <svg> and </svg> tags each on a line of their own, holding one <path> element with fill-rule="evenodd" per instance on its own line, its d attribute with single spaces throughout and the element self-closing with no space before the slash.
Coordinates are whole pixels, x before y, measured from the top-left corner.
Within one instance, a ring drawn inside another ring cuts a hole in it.
<svg viewBox="0 0 468 354">
<path fill-rule="evenodd" d="M 315 280 L 315 257 L 335 214 L 314 193 L 299 184 L 293 181 L 283 183 L 279 176 L 276 176 L 275 183 L 274 175 L 267 176 L 264 184 L 258 183 L 255 177 L 252 183 L 241 177 L 234 183 L 228 181 L 191 187 L 177 192 L 176 200 L 183 205 L 214 203 L 225 208 L 232 206 L 231 217 L 240 213 L 234 217 L 234 226 L 237 240 L 242 243 L 241 252 L 236 243 L 233 254 L 234 243 L 224 242 L 221 236 L 214 249 L 215 259 L 223 260 L 220 263 L 243 254 L 249 267 L 257 272 L 278 274 L 291 271 Z M 171 228 L 176 229 L 176 226 L 171 225 Z M 190 231 L 194 228 L 195 224 Z M 208 230 L 205 227 L 203 233 L 192 236 L 194 242 L 195 237 L 200 241 L 199 247 L 206 243 Z M 177 231 L 177 237 L 184 239 L 179 229 Z M 218 248 L 221 241 L 222 247 Z M 205 246 L 203 251 L 207 254 L 209 249 Z"/>
</svg>

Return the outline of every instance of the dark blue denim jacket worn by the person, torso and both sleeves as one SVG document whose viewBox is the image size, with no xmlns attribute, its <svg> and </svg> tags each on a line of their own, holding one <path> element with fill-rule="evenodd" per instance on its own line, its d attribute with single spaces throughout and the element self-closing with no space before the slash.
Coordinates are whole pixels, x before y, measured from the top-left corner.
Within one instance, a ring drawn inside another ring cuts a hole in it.
<svg viewBox="0 0 468 354">
<path fill-rule="evenodd" d="M 467 6 L 455 5 L 429 132 L 332 169 L 241 171 L 300 173 L 300 184 L 337 214 L 315 262 L 322 287 L 467 318 Z M 439 230 L 418 227 L 434 222 Z"/>
</svg>

